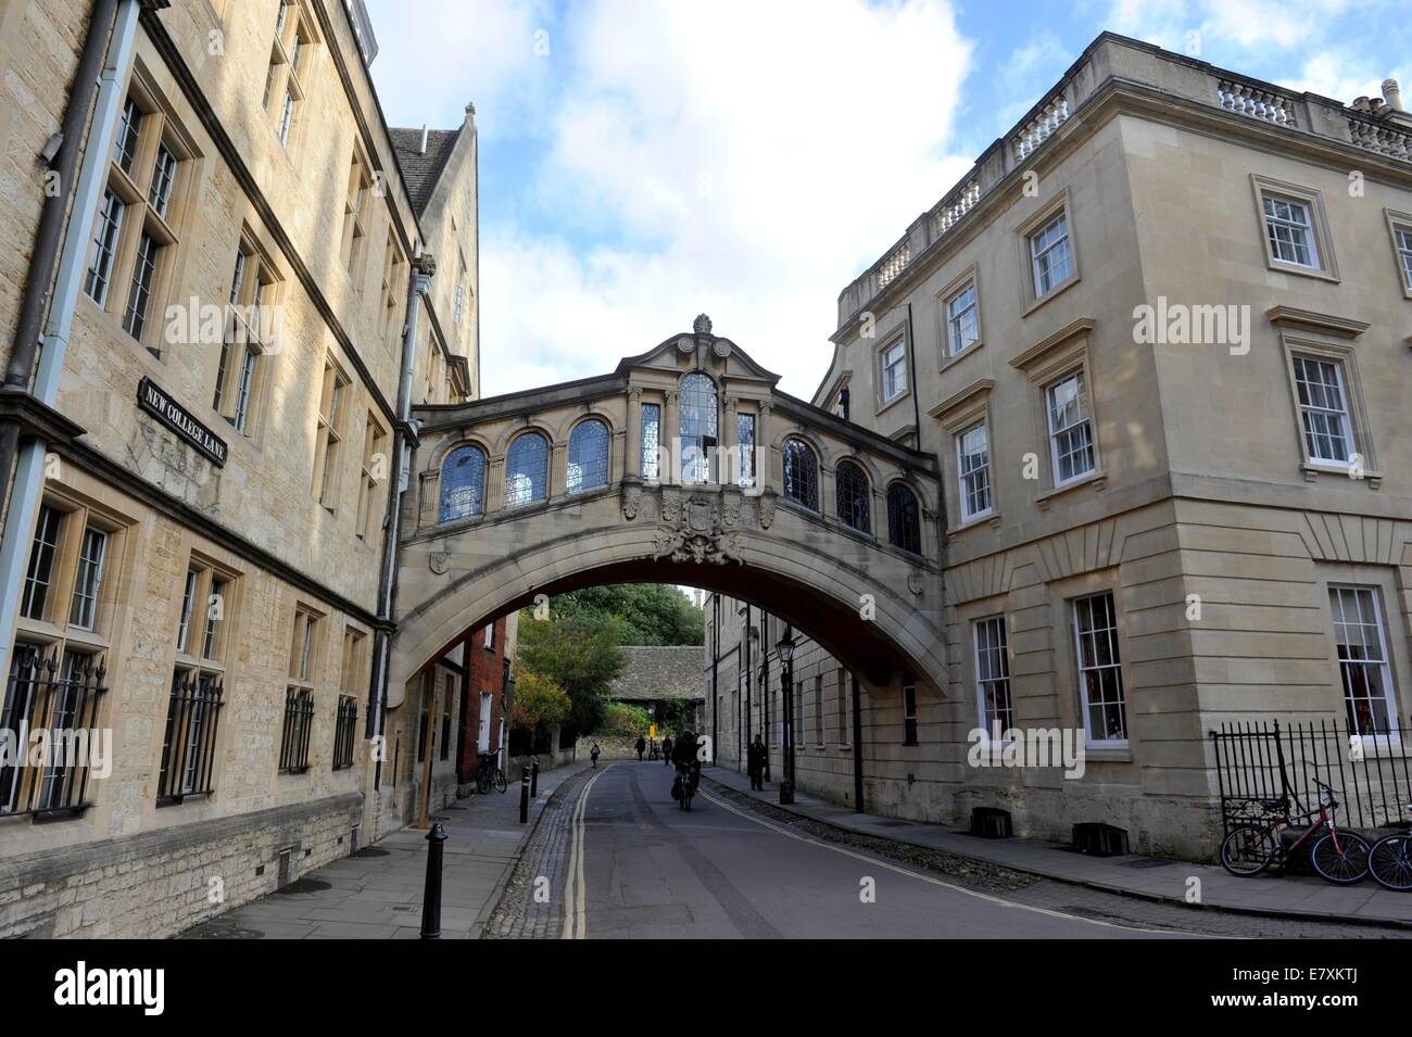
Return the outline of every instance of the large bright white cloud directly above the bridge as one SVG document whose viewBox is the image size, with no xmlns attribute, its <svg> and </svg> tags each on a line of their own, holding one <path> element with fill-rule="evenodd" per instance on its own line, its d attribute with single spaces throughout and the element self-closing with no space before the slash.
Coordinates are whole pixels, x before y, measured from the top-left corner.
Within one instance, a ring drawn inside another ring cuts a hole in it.
<svg viewBox="0 0 1412 1037">
<path fill-rule="evenodd" d="M 570 17 L 534 189 L 549 220 L 481 241 L 487 394 L 609 371 L 706 310 L 810 395 L 837 292 L 970 164 L 946 157 L 970 59 L 949 6 Z"/>
</svg>

